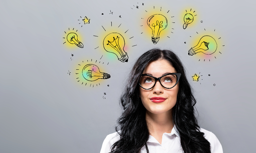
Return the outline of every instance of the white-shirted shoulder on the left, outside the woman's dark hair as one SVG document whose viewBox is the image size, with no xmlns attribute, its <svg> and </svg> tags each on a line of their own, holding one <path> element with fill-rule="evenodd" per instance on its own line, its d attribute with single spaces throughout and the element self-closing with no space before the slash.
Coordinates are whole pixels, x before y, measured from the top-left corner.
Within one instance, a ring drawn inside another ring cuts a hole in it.
<svg viewBox="0 0 256 153">
<path fill-rule="evenodd" d="M 109 153 L 111 146 L 119 139 L 120 135 L 117 132 L 108 134 L 102 143 L 100 153 Z"/>
</svg>

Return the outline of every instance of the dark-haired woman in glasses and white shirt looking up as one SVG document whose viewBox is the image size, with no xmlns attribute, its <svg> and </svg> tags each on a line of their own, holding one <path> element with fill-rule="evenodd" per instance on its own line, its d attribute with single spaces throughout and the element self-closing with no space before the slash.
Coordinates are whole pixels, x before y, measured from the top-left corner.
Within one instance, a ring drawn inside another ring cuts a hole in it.
<svg viewBox="0 0 256 153">
<path fill-rule="evenodd" d="M 223 153 L 217 137 L 197 124 L 196 100 L 175 53 L 147 51 L 128 78 L 116 133 L 100 153 Z"/>
</svg>

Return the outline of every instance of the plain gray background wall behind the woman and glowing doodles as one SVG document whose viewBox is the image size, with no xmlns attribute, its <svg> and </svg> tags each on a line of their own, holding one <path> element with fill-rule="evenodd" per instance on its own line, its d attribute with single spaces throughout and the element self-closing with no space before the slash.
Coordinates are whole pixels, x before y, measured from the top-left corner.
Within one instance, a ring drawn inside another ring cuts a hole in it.
<svg viewBox="0 0 256 153">
<path fill-rule="evenodd" d="M 154 45 L 141 34 L 137 22 L 144 13 L 142 3 L 144 7 L 158 3 L 162 11 L 171 10 L 176 23 L 170 38 Z M 198 23 L 184 30 L 178 18 L 188 7 L 198 12 Z M 80 16 L 88 16 L 90 24 L 80 27 Z M 129 29 L 127 37 L 134 36 L 129 40 L 127 63 L 94 50 L 100 41 L 93 35 L 111 21 L 113 26 L 122 23 L 123 29 Z M 121 112 L 119 96 L 132 64 L 154 47 L 173 49 L 181 57 L 195 90 L 200 126 L 217 136 L 223 151 L 255 152 L 255 23 L 255 2 L 248 0 L 1 0 L 0 152 L 99 152 L 106 135 L 115 132 Z M 68 28 L 83 35 L 83 49 L 63 45 Z M 184 43 L 204 28 L 216 29 L 225 45 L 221 56 L 211 61 L 188 56 L 192 46 Z M 111 78 L 100 87 L 76 82 L 74 65 L 88 59 L 109 62 L 103 66 Z M 191 78 L 199 72 L 201 84 Z"/>
</svg>

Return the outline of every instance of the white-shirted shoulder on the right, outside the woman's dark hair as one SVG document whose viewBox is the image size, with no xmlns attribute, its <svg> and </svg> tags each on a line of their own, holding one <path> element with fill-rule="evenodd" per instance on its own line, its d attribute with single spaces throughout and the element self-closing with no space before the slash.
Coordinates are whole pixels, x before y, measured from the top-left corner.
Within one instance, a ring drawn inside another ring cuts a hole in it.
<svg viewBox="0 0 256 153">
<path fill-rule="evenodd" d="M 222 146 L 215 134 L 202 128 L 200 128 L 200 131 L 204 133 L 205 139 L 210 142 L 211 153 L 223 153 Z"/>
</svg>

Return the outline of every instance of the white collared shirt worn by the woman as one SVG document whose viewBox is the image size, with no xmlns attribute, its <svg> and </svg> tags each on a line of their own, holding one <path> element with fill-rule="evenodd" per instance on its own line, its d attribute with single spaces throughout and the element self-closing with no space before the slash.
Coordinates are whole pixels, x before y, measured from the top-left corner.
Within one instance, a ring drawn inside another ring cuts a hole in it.
<svg viewBox="0 0 256 153">
<path fill-rule="evenodd" d="M 147 142 L 150 153 L 182 153 L 181 139 L 178 132 L 175 130 L 174 125 L 172 132 L 164 133 L 162 137 L 162 144 L 160 144 L 152 135 L 149 135 Z M 210 142 L 211 153 L 223 153 L 222 146 L 217 137 L 212 133 L 204 129 L 200 129 L 204 133 L 204 137 Z M 117 132 L 107 135 L 103 141 L 100 153 L 109 153 L 111 146 L 120 139 Z M 139 153 L 147 153 L 145 146 L 143 146 Z"/>
</svg>

